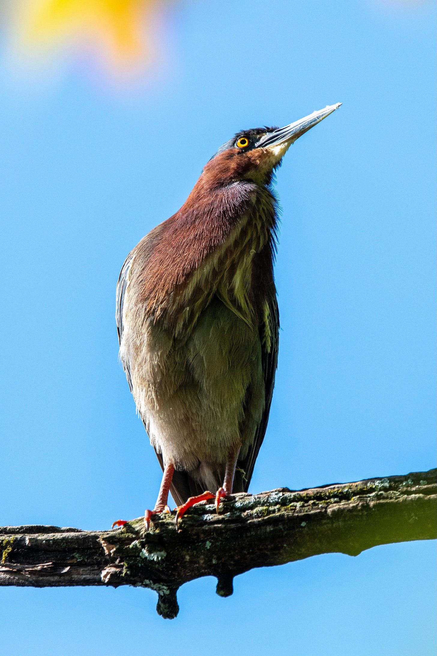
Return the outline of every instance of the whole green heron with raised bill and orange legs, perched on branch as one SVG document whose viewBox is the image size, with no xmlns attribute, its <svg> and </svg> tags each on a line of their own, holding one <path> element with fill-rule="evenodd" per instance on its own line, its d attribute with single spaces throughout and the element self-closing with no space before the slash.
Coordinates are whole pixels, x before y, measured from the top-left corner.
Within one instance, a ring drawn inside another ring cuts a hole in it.
<svg viewBox="0 0 437 656">
<path fill-rule="evenodd" d="M 279 316 L 273 173 L 341 103 L 244 130 L 187 201 L 129 253 L 117 284 L 120 357 L 163 476 L 151 516 L 248 489 L 275 384 Z M 206 491 L 205 491 L 206 490 Z M 123 525 L 119 520 L 114 525 Z"/>
</svg>

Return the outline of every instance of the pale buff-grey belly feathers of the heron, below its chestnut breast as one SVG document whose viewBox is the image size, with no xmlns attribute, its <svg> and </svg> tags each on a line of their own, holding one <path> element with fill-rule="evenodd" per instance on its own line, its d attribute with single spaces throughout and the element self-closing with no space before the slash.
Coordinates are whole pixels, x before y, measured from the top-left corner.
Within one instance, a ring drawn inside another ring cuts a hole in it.
<svg viewBox="0 0 437 656">
<path fill-rule="evenodd" d="M 244 457 L 265 404 L 256 328 L 218 297 L 191 335 L 174 340 L 159 320 L 129 321 L 121 357 L 151 444 L 206 487 L 217 487 L 230 451 Z"/>
</svg>

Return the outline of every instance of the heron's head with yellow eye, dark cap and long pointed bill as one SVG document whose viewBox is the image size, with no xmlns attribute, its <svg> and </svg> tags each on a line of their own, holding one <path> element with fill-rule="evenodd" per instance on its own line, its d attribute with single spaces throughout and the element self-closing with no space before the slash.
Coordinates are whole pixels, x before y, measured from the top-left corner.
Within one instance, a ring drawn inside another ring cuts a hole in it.
<svg viewBox="0 0 437 656">
<path fill-rule="evenodd" d="M 337 110 L 341 102 L 290 123 L 285 127 L 243 130 L 219 148 L 204 167 L 210 184 L 222 186 L 239 180 L 252 180 L 268 186 L 273 172 L 295 140 Z"/>
</svg>

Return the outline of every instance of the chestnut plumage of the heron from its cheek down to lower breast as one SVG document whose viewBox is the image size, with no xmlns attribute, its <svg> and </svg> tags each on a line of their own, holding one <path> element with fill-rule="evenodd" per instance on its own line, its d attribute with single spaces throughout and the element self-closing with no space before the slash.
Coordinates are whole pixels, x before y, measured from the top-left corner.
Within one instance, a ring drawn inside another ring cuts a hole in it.
<svg viewBox="0 0 437 656">
<path fill-rule="evenodd" d="M 131 293 L 180 337 L 214 294 L 254 326 L 275 297 L 276 199 L 263 157 L 216 155 L 181 209 L 135 249 Z"/>
</svg>

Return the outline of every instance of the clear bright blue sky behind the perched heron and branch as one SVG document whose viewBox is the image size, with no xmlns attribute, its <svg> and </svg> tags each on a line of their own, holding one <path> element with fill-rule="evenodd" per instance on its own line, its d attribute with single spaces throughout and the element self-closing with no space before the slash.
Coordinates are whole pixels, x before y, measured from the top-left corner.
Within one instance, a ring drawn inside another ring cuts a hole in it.
<svg viewBox="0 0 437 656">
<path fill-rule="evenodd" d="M 124 257 L 238 129 L 343 106 L 278 171 L 280 358 L 257 492 L 435 466 L 435 9 L 376 0 L 187 1 L 165 64 L 117 90 L 0 64 L 0 524 L 105 529 L 161 470 L 117 361 Z M 181 588 L 3 588 L 1 644 L 33 656 L 434 653 L 435 543 Z"/>
</svg>

